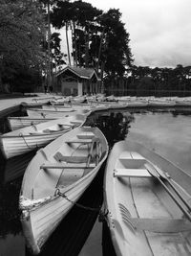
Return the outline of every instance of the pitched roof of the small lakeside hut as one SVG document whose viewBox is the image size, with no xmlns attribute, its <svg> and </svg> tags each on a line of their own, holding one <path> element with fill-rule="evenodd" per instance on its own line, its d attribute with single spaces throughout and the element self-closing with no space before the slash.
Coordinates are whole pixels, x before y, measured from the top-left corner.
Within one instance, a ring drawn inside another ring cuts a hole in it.
<svg viewBox="0 0 191 256">
<path fill-rule="evenodd" d="M 55 76 L 58 77 L 62 73 L 66 72 L 67 70 L 71 71 L 72 73 L 74 73 L 74 75 L 76 75 L 77 77 L 79 77 L 81 79 L 90 80 L 90 79 L 92 79 L 92 77 L 95 74 L 96 79 L 100 80 L 99 77 L 97 76 L 96 70 L 94 68 L 83 68 L 83 67 L 74 67 L 74 66 L 65 67 L 64 69 L 59 71 Z"/>
</svg>

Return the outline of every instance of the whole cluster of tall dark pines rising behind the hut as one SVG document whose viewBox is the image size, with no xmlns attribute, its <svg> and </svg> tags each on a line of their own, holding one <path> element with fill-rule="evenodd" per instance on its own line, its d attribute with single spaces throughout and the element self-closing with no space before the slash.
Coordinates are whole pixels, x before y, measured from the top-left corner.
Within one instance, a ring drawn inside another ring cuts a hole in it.
<svg viewBox="0 0 191 256">
<path fill-rule="evenodd" d="M 89 3 L 69 0 L 57 1 L 51 15 L 56 29 L 72 28 L 75 64 L 95 67 L 112 78 L 122 76 L 133 61 L 129 34 L 120 18 L 118 10 L 103 13 Z"/>
</svg>

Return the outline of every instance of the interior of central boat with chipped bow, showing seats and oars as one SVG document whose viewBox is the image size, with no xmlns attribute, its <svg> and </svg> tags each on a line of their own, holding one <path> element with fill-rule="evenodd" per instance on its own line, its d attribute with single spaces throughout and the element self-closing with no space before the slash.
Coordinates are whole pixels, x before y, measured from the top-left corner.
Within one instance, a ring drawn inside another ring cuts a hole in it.
<svg viewBox="0 0 191 256">
<path fill-rule="evenodd" d="M 40 152 L 46 161 L 43 160 L 34 182 L 33 199 L 53 195 L 56 188 L 69 190 L 77 180 L 90 174 L 106 153 L 93 132 L 81 132 L 69 138 L 49 159 L 43 149 Z"/>
</svg>

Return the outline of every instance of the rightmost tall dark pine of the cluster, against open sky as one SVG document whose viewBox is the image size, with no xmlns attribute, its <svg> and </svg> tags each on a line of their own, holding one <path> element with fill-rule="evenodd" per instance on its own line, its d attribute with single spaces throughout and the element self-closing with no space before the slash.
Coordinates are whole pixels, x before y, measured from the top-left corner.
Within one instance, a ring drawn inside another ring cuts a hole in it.
<svg viewBox="0 0 191 256">
<path fill-rule="evenodd" d="M 101 61 L 105 62 L 104 71 L 111 78 L 121 77 L 133 61 L 129 48 L 129 34 L 120 18 L 121 13 L 116 9 L 111 9 L 100 16 L 100 24 L 105 33 Z"/>
</svg>

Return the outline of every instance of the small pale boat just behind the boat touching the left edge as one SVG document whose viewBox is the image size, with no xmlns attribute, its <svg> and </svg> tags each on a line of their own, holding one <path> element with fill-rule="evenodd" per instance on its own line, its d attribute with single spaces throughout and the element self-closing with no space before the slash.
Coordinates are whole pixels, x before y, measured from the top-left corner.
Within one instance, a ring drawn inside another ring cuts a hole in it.
<svg viewBox="0 0 191 256">
<path fill-rule="evenodd" d="M 18 128 L 26 128 L 33 125 L 38 125 L 40 123 L 49 122 L 56 118 L 46 118 L 46 117 L 29 117 L 29 116 L 9 116 L 8 126 L 11 130 Z"/>
</svg>

